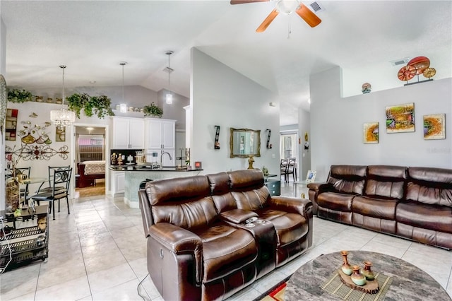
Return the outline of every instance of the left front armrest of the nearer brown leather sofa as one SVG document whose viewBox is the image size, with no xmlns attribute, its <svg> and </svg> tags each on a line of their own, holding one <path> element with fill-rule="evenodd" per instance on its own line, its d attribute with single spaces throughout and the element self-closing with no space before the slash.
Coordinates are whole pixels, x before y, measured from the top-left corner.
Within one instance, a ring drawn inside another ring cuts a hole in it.
<svg viewBox="0 0 452 301">
<path fill-rule="evenodd" d="M 170 223 L 157 223 L 149 228 L 149 237 L 157 240 L 172 253 L 194 254 L 196 283 L 201 283 L 203 271 L 203 242 L 198 235 Z"/>
</svg>

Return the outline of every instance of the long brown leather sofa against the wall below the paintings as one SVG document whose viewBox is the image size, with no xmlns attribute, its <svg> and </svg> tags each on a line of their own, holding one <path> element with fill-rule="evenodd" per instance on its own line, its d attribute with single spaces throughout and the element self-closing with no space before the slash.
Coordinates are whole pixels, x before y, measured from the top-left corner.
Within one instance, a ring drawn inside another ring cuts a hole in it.
<svg viewBox="0 0 452 301">
<path fill-rule="evenodd" d="M 452 249 L 452 170 L 331 165 L 307 187 L 319 218 Z"/>
</svg>

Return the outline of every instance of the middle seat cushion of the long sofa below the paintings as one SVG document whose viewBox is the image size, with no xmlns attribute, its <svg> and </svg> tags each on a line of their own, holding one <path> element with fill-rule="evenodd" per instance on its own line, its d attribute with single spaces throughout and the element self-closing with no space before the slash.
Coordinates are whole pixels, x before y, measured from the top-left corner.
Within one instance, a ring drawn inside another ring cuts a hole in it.
<svg viewBox="0 0 452 301">
<path fill-rule="evenodd" d="M 397 199 L 376 199 L 369 196 L 355 196 L 352 201 L 353 214 L 374 216 L 386 220 L 396 219 Z"/>
</svg>

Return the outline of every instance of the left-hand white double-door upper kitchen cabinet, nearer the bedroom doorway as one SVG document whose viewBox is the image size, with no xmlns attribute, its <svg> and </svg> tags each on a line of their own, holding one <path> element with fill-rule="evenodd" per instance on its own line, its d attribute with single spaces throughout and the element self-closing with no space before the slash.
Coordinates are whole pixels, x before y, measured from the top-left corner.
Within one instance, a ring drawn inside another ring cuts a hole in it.
<svg viewBox="0 0 452 301">
<path fill-rule="evenodd" d="M 144 119 L 129 117 L 113 117 L 112 148 L 143 149 Z"/>
</svg>

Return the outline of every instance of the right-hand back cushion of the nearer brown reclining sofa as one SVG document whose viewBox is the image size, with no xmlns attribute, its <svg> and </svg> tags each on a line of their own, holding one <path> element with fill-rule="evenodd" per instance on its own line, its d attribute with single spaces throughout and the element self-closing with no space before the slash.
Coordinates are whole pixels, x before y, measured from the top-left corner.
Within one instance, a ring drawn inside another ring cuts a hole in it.
<svg viewBox="0 0 452 301">
<path fill-rule="evenodd" d="M 270 192 L 263 184 L 261 170 L 236 170 L 227 174 L 238 209 L 255 211 L 266 206 Z"/>
</svg>

